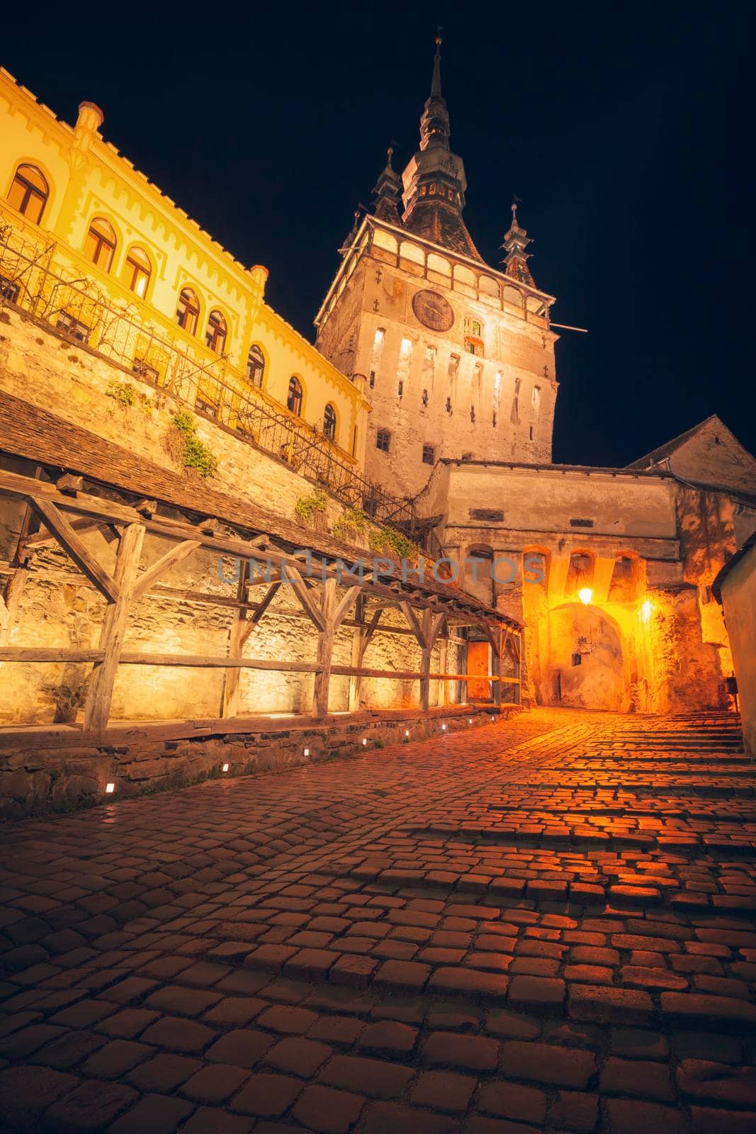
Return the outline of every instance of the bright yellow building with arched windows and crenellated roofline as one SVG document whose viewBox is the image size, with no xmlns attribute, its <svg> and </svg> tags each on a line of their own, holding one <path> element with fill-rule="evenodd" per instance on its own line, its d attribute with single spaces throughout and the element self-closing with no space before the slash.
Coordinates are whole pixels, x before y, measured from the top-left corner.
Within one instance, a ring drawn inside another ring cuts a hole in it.
<svg viewBox="0 0 756 1134">
<path fill-rule="evenodd" d="M 0 293 L 295 467 L 364 464 L 368 405 L 245 269 L 105 142 L 0 69 Z"/>
</svg>

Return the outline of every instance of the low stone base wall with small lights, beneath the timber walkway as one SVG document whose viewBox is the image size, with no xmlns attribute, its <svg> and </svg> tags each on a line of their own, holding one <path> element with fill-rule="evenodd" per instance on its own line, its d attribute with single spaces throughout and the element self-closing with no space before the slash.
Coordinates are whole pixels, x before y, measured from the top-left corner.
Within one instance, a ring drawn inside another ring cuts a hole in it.
<svg viewBox="0 0 756 1134">
<path fill-rule="evenodd" d="M 181 736 L 178 722 L 124 726 L 95 737 L 74 729 L 9 730 L 0 733 L 0 818 L 73 811 L 211 777 L 287 771 L 390 744 L 441 738 L 519 711 L 450 705 L 423 714 L 359 712 L 322 722 L 267 718 L 231 733 L 224 731 L 232 727 L 228 721 L 192 721 L 193 736 Z M 237 729 L 241 725 L 235 723 Z"/>
</svg>

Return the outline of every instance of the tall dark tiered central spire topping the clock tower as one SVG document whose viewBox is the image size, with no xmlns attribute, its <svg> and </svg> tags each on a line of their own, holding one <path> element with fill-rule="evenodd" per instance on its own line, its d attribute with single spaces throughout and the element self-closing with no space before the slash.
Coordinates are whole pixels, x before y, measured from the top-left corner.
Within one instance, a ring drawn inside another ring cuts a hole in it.
<svg viewBox="0 0 756 1134">
<path fill-rule="evenodd" d="M 482 260 L 462 220 L 465 164 L 449 149 L 449 111 L 441 93 L 441 35 L 435 37 L 431 94 L 421 116 L 419 150 L 402 174 L 404 227 L 450 252 Z"/>
</svg>

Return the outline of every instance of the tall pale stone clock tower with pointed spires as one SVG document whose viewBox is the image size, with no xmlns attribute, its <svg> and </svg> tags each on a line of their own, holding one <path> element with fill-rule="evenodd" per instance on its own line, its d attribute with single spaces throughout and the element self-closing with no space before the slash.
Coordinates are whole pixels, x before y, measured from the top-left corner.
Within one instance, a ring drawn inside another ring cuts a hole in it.
<svg viewBox="0 0 756 1134">
<path fill-rule="evenodd" d="M 322 354 L 364 378 L 372 413 L 358 451 L 393 496 L 418 496 L 444 457 L 551 463 L 554 301 L 535 286 L 516 205 L 500 269 L 473 243 L 435 42 L 419 149 L 401 178 L 389 150 L 315 320 Z"/>
</svg>

